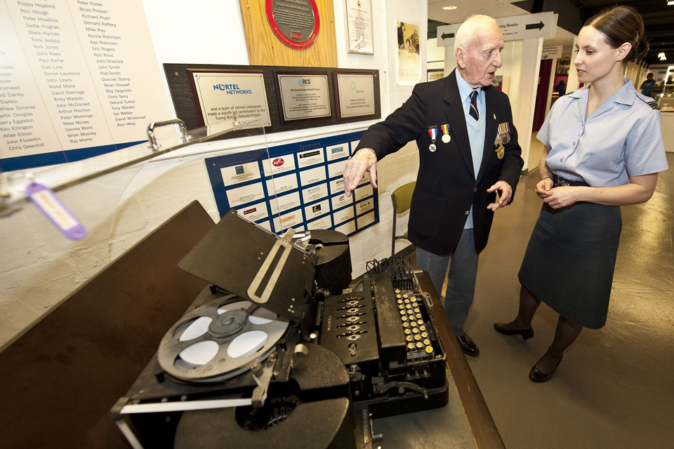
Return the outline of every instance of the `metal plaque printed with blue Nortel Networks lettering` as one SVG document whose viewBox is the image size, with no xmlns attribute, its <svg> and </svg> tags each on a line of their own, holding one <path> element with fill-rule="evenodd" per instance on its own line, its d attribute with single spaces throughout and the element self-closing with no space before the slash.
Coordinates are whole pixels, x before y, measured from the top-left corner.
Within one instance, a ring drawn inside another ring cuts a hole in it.
<svg viewBox="0 0 674 449">
<path fill-rule="evenodd" d="M 242 128 L 272 126 L 263 72 L 187 72 L 197 109 L 201 110 L 201 126 L 225 121 L 240 121 Z"/>
</svg>

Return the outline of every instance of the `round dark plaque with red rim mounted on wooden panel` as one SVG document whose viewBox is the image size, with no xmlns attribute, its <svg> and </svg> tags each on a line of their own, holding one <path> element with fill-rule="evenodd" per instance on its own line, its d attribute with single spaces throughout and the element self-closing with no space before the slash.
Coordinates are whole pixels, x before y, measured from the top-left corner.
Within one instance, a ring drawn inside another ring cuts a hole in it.
<svg viewBox="0 0 674 449">
<path fill-rule="evenodd" d="M 320 26 L 316 0 L 266 0 L 266 10 L 269 25 L 286 46 L 312 46 Z"/>
</svg>

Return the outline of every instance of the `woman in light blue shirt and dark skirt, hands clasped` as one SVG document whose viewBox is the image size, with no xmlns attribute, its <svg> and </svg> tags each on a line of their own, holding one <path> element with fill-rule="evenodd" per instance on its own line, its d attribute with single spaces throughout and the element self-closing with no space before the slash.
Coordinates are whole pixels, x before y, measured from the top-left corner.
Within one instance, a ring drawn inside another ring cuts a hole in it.
<svg viewBox="0 0 674 449">
<path fill-rule="evenodd" d="M 635 9 L 619 6 L 588 20 L 574 65 L 590 86 L 557 100 L 538 132 L 546 145 L 536 185 L 543 208 L 518 275 L 520 309 L 514 321 L 494 324 L 526 340 L 541 300 L 560 314 L 552 344 L 529 373 L 533 382 L 550 379 L 583 328 L 606 323 L 618 206 L 648 201 L 658 172 L 668 168 L 657 106 L 623 79 L 627 61 L 647 50 Z"/>
</svg>

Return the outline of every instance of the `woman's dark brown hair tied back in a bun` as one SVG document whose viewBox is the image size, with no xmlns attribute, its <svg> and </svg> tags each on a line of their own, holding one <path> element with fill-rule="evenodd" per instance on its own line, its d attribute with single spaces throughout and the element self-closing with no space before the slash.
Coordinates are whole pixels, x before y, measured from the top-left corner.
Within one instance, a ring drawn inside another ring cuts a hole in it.
<svg viewBox="0 0 674 449">
<path fill-rule="evenodd" d="M 644 36 L 644 21 L 631 6 L 616 6 L 604 10 L 590 18 L 584 26 L 593 27 L 604 34 L 606 43 L 611 48 L 618 48 L 626 42 L 631 43 L 632 50 L 623 59 L 624 64 L 630 60 L 643 58 L 648 53 L 649 45 Z"/>
</svg>

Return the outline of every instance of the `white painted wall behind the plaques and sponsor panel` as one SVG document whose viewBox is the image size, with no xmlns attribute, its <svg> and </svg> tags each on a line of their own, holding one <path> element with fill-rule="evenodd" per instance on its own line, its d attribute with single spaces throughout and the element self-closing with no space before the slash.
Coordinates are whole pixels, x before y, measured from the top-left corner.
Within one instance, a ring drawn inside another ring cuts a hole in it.
<svg viewBox="0 0 674 449">
<path fill-rule="evenodd" d="M 199 1 L 188 6 L 176 0 L 142 1 L 159 67 L 164 62 L 249 63 L 238 1 Z M 397 86 L 395 82 L 395 22 L 418 24 L 419 34 L 425 36 L 426 2 L 372 0 L 374 56 L 346 53 L 344 1 L 334 0 L 334 8 L 338 66 L 380 70 L 382 116 L 386 116 L 409 97 L 412 88 Z M 421 39 L 421 42 L 426 40 Z M 421 58 L 425 79 L 424 44 Z M 166 92 L 168 96 L 168 88 Z M 152 119 L 159 121 L 167 117 Z M 267 138 L 290 143 L 310 135 L 349 132 L 369 123 L 276 133 Z M 242 147 L 248 145 L 247 142 L 200 145 L 199 154 L 185 153 L 143 167 L 128 168 L 60 192 L 60 199 L 88 230 L 88 236 L 78 242 L 63 238 L 32 205 L 11 217 L 0 217 L 4 256 L 0 258 L 0 349 L 190 201 L 200 201 L 211 217 L 218 220 L 204 156 L 261 146 L 258 143 Z M 379 163 L 381 223 L 351 239 L 354 276 L 364 272 L 366 261 L 390 255 L 390 193 L 399 185 L 416 179 L 417 170 L 418 154 L 414 143 Z M 406 225 L 405 218 L 399 220 L 400 227 Z M 399 244 L 397 249 L 401 248 Z"/>
</svg>

